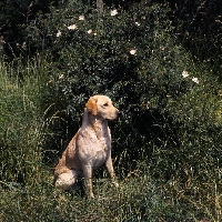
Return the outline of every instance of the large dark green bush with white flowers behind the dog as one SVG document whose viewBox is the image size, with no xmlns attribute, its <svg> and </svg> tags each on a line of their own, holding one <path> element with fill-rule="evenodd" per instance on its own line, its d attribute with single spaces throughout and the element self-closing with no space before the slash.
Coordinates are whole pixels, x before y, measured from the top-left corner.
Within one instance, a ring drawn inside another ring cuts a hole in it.
<svg viewBox="0 0 222 222">
<path fill-rule="evenodd" d="M 202 122 L 203 104 L 199 104 L 202 99 L 192 108 L 200 105 L 198 113 L 183 113 L 191 102 L 182 101 L 191 100 L 196 91 L 202 98 L 201 93 L 214 82 L 208 83 L 210 78 L 202 78 L 206 70 L 196 71 L 190 54 L 176 44 L 167 17 L 168 7 L 143 1 L 128 11 L 105 8 L 104 14 L 99 16 L 93 9 L 70 2 L 51 11 L 28 31 L 36 30 L 30 37 L 37 48 L 42 34 L 48 40 L 46 51 L 50 51 L 54 61 L 51 84 L 72 122 L 64 138 L 79 128 L 87 99 L 97 93 L 108 94 L 124 113 L 112 125 L 114 147 L 119 149 L 114 152 L 118 160 L 124 157 L 122 167 L 130 169 L 132 160 L 157 161 L 152 147 L 163 145 L 172 151 L 167 151 L 169 157 L 160 157 L 164 165 L 159 170 L 170 178 L 172 158 L 175 162 L 180 160 L 173 149 L 189 145 L 190 132 L 193 137 L 200 123 L 205 132 L 211 128 L 209 124 L 214 124 L 210 110 L 204 113 L 206 122 Z M 209 102 L 208 97 L 204 101 Z M 176 163 L 175 171 L 180 164 Z"/>
</svg>

